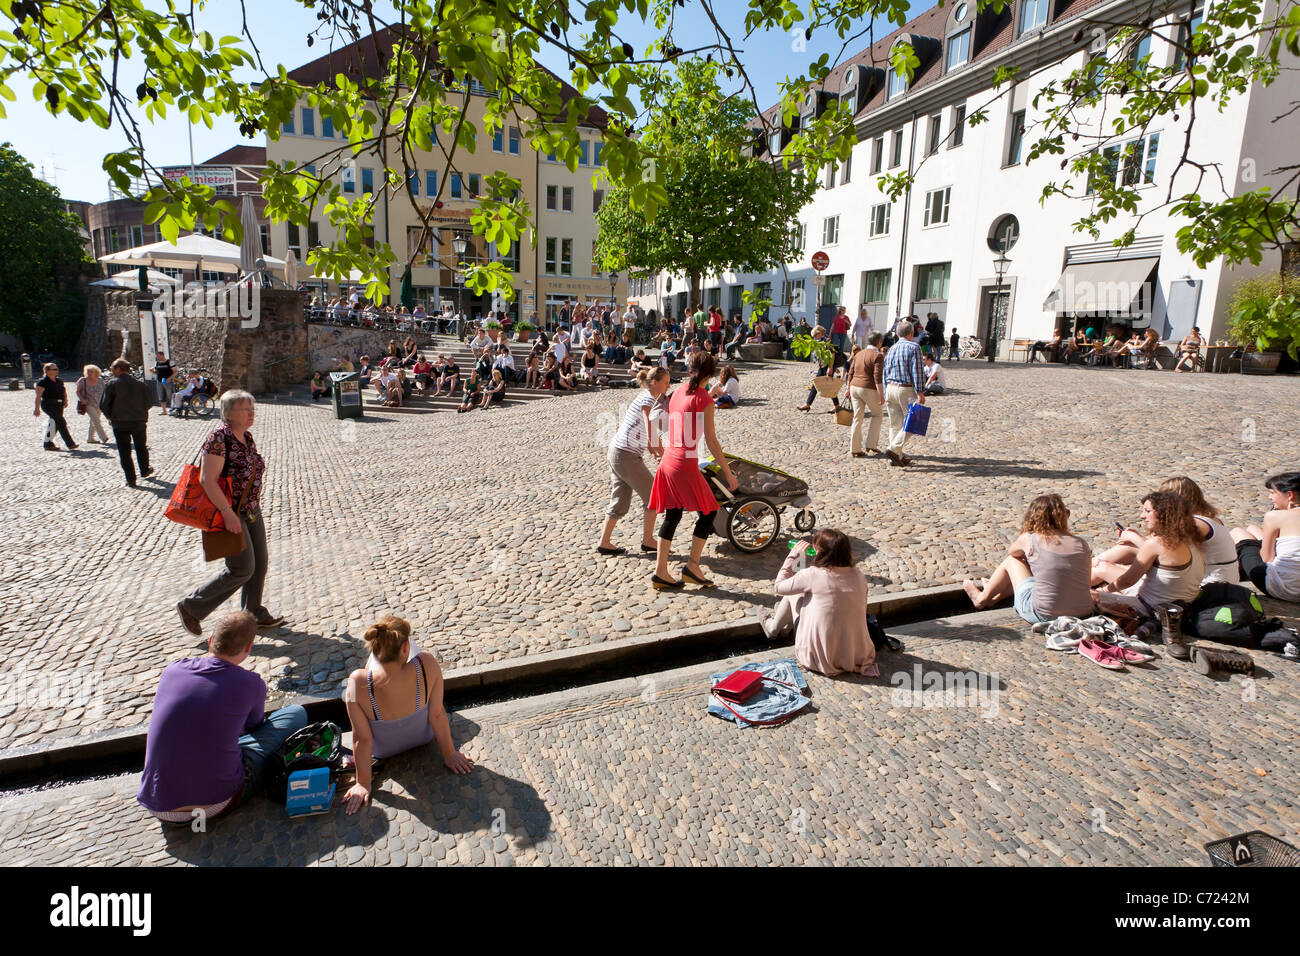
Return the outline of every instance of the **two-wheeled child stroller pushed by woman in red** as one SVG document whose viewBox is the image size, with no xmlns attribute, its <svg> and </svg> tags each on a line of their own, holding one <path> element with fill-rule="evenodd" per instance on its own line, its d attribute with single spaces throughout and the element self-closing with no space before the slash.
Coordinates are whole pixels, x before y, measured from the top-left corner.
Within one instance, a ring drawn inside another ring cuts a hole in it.
<svg viewBox="0 0 1300 956">
<path fill-rule="evenodd" d="M 727 463 L 738 483 L 734 492 L 727 490 L 712 458 L 701 458 L 699 471 L 718 502 L 714 531 L 737 549 L 758 554 L 770 548 L 781 533 L 781 514 L 788 507 L 798 509 L 797 531 L 806 533 L 816 525 L 816 515 L 809 511 L 812 499 L 807 481 L 736 455 L 727 455 Z"/>
</svg>

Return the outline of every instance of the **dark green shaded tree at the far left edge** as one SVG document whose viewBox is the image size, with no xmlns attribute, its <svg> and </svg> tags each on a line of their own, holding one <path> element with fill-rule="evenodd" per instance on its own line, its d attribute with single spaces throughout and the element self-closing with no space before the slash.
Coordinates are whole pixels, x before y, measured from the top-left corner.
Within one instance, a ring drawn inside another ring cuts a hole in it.
<svg viewBox="0 0 1300 956">
<path fill-rule="evenodd" d="M 9 144 L 0 146 L 0 332 L 68 351 L 81 330 L 81 220 Z"/>
</svg>

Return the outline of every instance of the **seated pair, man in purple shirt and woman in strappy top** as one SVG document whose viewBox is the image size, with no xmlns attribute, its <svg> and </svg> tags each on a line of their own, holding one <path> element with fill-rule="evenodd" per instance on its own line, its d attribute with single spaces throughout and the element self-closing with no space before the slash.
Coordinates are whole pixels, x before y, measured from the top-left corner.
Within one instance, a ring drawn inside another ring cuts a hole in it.
<svg viewBox="0 0 1300 956">
<path fill-rule="evenodd" d="M 307 726 L 299 705 L 266 714 L 265 682 L 242 666 L 256 636 L 257 619 L 234 611 L 213 627 L 204 657 L 164 669 L 135 797 L 157 819 L 190 826 L 230 813 L 263 788 L 269 760 Z M 448 770 L 473 769 L 451 739 L 438 661 L 415 646 L 411 624 L 381 618 L 365 644 L 369 659 L 343 691 L 356 773 L 343 797 L 350 814 L 369 801 L 377 760 L 437 740 Z"/>
</svg>

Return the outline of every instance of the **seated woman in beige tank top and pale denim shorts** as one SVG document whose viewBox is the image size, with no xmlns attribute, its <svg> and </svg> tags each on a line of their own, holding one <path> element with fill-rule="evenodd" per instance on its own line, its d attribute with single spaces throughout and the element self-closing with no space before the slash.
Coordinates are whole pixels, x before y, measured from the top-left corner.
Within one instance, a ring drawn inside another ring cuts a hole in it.
<svg viewBox="0 0 1300 956">
<path fill-rule="evenodd" d="M 980 584 L 962 581 L 971 604 L 983 610 L 1006 597 L 1031 624 L 1062 615 L 1092 614 L 1089 583 L 1092 549 L 1070 533 L 1070 509 L 1060 494 L 1040 494 L 1030 502 L 1020 535 L 992 578 Z"/>
</svg>

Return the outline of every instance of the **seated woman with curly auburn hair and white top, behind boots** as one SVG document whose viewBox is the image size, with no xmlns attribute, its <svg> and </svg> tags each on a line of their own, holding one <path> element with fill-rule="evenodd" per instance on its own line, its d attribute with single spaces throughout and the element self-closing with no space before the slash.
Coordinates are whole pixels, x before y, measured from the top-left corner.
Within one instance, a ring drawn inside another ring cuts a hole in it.
<svg viewBox="0 0 1300 956">
<path fill-rule="evenodd" d="M 1205 578 L 1201 533 L 1187 501 L 1174 492 L 1152 492 L 1141 502 L 1148 537 L 1123 555 L 1108 551 L 1093 562 L 1092 584 L 1117 592 L 1110 601 L 1144 614 L 1174 601 L 1193 601 Z M 1118 558 L 1118 559 L 1117 559 Z"/>
</svg>

